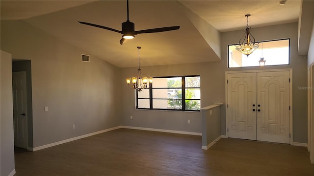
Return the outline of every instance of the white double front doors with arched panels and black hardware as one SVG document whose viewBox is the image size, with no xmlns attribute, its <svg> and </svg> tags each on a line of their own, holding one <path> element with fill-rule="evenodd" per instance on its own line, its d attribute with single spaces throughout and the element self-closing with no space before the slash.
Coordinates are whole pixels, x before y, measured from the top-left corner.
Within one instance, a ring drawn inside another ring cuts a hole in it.
<svg viewBox="0 0 314 176">
<path fill-rule="evenodd" d="M 228 137 L 290 142 L 290 72 L 228 73 Z"/>
</svg>

